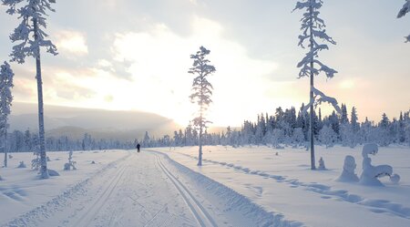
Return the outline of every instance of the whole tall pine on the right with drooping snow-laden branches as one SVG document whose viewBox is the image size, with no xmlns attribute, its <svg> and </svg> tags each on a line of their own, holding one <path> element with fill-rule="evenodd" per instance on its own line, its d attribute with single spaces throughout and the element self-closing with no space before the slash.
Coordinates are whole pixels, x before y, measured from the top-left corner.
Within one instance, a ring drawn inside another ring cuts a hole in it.
<svg viewBox="0 0 410 227">
<path fill-rule="evenodd" d="M 317 41 L 319 39 L 336 44 L 331 36 L 326 34 L 324 29 L 324 21 L 319 17 L 319 9 L 322 7 L 322 0 L 302 0 L 296 3 L 295 8 L 300 10 L 305 10 L 303 17 L 301 19 L 302 26 L 302 35 L 299 36 L 299 46 L 304 48 L 303 43 L 307 42 L 308 47 L 310 47 L 309 52 L 303 57 L 302 61 L 298 63 L 297 67 L 301 67 L 299 72 L 299 78 L 301 77 L 310 77 L 310 102 L 305 107 L 304 111 L 307 108 L 310 108 L 310 144 L 311 144 L 311 168 L 315 170 L 315 160 L 314 160 L 314 132 L 313 132 L 313 107 L 319 105 L 320 103 L 329 102 L 333 107 L 340 112 L 340 108 L 337 106 L 337 101 L 335 98 L 327 97 L 323 94 L 322 91 L 313 87 L 313 77 L 319 75 L 319 73 L 324 72 L 326 77 L 332 78 L 336 70 L 331 67 L 325 66 L 321 61 L 317 59 L 319 57 L 319 51 L 324 49 L 329 49 L 329 46 L 325 44 L 319 44 Z M 315 100 L 317 97 L 317 100 Z"/>
</svg>

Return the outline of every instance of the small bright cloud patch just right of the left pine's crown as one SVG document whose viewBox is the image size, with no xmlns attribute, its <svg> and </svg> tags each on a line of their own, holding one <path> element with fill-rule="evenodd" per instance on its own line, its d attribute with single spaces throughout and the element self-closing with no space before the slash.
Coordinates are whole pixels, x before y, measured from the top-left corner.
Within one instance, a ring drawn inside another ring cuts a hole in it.
<svg viewBox="0 0 410 227">
<path fill-rule="evenodd" d="M 80 32 L 72 30 L 62 30 L 56 33 L 56 46 L 60 55 L 69 57 L 74 54 L 84 56 L 88 54 L 86 36 Z"/>
</svg>

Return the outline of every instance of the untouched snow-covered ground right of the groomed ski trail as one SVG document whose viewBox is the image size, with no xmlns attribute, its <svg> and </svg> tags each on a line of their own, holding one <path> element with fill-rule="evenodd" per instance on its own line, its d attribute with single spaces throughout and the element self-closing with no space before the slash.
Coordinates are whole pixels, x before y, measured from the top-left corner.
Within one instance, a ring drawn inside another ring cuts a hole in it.
<svg viewBox="0 0 410 227">
<path fill-rule="evenodd" d="M 343 160 L 352 155 L 362 172 L 362 147 L 317 147 L 328 170 L 310 170 L 310 152 L 267 147 L 205 147 L 203 166 L 198 148 L 155 149 L 218 181 L 284 220 L 308 226 L 410 226 L 410 149 L 379 148 L 373 165 L 388 164 L 401 176 L 398 184 L 382 178 L 384 187 L 339 182 Z M 278 155 L 276 155 L 278 152 Z"/>
</svg>

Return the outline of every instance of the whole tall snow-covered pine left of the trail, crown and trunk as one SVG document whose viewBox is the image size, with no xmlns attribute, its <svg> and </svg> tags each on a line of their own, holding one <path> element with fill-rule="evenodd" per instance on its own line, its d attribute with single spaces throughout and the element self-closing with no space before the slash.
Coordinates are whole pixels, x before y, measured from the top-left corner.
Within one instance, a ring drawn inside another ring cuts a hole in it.
<svg viewBox="0 0 410 227">
<path fill-rule="evenodd" d="M 26 4 L 22 4 L 25 2 Z M 46 145 L 45 145 L 45 127 L 44 127 L 44 108 L 43 108 L 43 81 L 41 75 L 40 47 L 46 47 L 46 52 L 57 55 L 56 46 L 46 39 L 46 15 L 47 11 L 55 12 L 51 3 L 56 0 L 2 0 L 3 5 L 8 6 L 9 15 L 18 15 L 21 19 L 19 26 L 10 35 L 12 42 L 19 42 L 13 46 L 10 55 L 12 61 L 19 64 L 25 63 L 26 57 L 36 58 L 36 80 L 38 93 L 38 129 L 40 143 L 41 169 L 40 176 L 42 179 L 48 178 L 46 162 Z M 21 7 L 17 8 L 17 5 Z"/>
</svg>

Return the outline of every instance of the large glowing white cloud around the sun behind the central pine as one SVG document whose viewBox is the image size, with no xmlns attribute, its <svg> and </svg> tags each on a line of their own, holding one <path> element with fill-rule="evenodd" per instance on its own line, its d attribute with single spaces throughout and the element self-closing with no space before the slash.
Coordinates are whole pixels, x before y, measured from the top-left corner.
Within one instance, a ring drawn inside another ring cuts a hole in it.
<svg viewBox="0 0 410 227">
<path fill-rule="evenodd" d="M 235 124 L 233 121 L 243 120 L 243 115 L 235 117 L 237 112 L 251 115 L 254 109 L 266 108 L 272 101 L 263 94 L 271 84 L 266 75 L 272 74 L 278 64 L 249 57 L 244 46 L 226 39 L 224 27 L 210 19 L 192 17 L 191 30 L 190 36 L 179 36 L 168 26 L 156 24 L 143 32 L 116 35 L 114 58 L 133 62 L 128 72 L 136 91 L 129 94 L 138 94 L 135 107 L 188 123 L 196 109 L 188 98 L 193 79 L 188 74 L 190 55 L 205 46 L 210 49 L 211 64 L 217 68 L 215 75 L 210 76 L 215 88 L 210 119 L 216 124 Z M 228 116 L 231 117 L 225 118 Z"/>
</svg>

